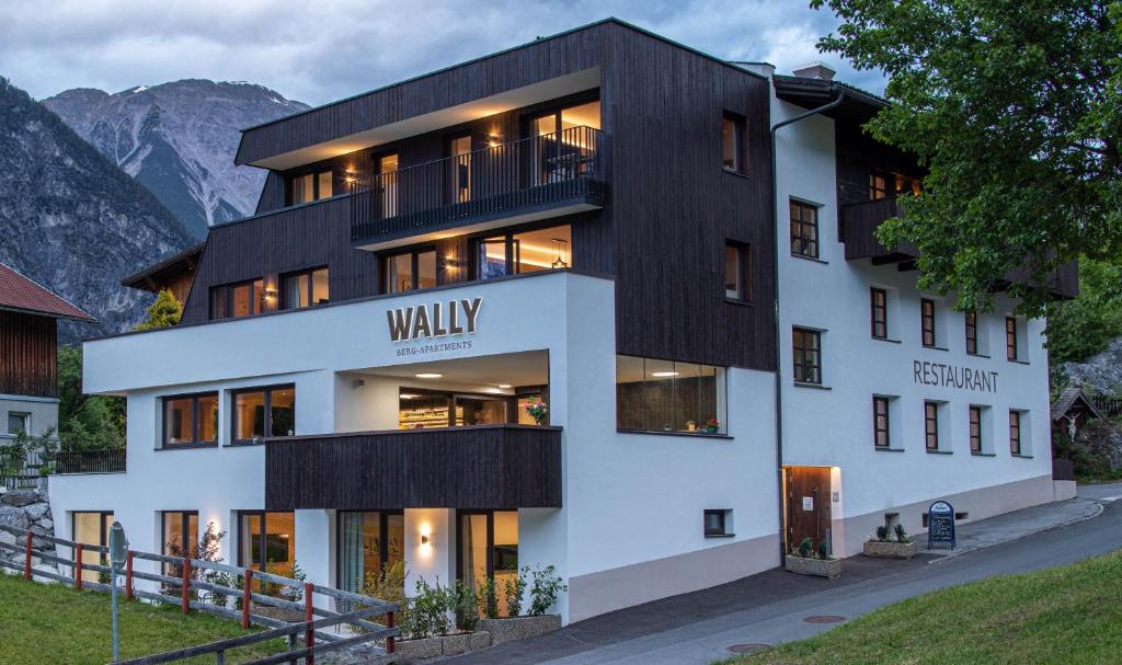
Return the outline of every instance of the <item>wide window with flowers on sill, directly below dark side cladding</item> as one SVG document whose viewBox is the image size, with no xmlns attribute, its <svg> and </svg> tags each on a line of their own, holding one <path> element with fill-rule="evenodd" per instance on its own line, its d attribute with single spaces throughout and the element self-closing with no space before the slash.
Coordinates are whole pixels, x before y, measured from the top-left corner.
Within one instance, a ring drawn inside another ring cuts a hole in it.
<svg viewBox="0 0 1122 665">
<path fill-rule="evenodd" d="M 725 370 L 616 355 L 616 426 L 649 432 L 725 431 Z"/>
</svg>

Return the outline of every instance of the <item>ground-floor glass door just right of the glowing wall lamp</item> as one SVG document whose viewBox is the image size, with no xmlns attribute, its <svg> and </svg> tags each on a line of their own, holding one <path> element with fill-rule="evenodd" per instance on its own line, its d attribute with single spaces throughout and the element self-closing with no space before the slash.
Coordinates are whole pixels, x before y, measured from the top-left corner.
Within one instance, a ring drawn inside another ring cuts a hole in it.
<svg viewBox="0 0 1122 665">
<path fill-rule="evenodd" d="M 499 616 L 507 616 L 503 591 L 518 574 L 518 512 L 460 510 L 458 515 L 457 576 L 473 590 L 493 580 Z"/>
</svg>

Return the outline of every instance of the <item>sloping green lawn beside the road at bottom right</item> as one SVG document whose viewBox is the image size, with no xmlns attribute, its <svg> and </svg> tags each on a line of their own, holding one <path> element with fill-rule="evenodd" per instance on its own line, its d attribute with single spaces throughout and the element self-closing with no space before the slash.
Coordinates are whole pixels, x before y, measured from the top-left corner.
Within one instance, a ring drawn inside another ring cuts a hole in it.
<svg viewBox="0 0 1122 665">
<path fill-rule="evenodd" d="M 1122 663 L 1122 552 L 935 591 L 726 663 Z"/>
</svg>

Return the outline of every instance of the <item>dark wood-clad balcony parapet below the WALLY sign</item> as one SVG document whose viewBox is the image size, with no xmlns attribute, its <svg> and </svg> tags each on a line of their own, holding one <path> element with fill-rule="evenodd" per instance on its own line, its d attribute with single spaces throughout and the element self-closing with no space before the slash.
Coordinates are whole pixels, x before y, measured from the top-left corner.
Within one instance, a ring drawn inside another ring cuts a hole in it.
<svg viewBox="0 0 1122 665">
<path fill-rule="evenodd" d="M 485 425 L 266 442 L 265 508 L 561 507 L 561 428 Z"/>
</svg>

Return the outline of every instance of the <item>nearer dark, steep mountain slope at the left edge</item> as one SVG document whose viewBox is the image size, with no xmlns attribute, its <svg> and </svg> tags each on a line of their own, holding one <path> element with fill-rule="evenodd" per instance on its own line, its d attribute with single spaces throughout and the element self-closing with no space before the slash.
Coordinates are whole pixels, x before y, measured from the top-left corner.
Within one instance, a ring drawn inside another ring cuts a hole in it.
<svg viewBox="0 0 1122 665">
<path fill-rule="evenodd" d="M 65 341 L 126 330 L 151 296 L 122 277 L 194 239 L 142 185 L 0 77 L 0 262 L 99 320 Z"/>
</svg>

